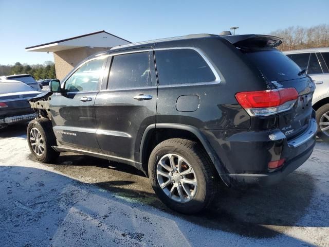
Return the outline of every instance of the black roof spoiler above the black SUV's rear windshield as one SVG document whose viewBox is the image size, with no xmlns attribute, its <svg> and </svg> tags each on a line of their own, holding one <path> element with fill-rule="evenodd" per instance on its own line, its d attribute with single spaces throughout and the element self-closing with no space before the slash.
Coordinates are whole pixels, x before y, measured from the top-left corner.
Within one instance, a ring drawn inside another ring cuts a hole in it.
<svg viewBox="0 0 329 247">
<path fill-rule="evenodd" d="M 242 49 L 274 48 L 282 44 L 281 38 L 270 35 L 245 34 L 222 36 L 222 38 Z"/>
</svg>

